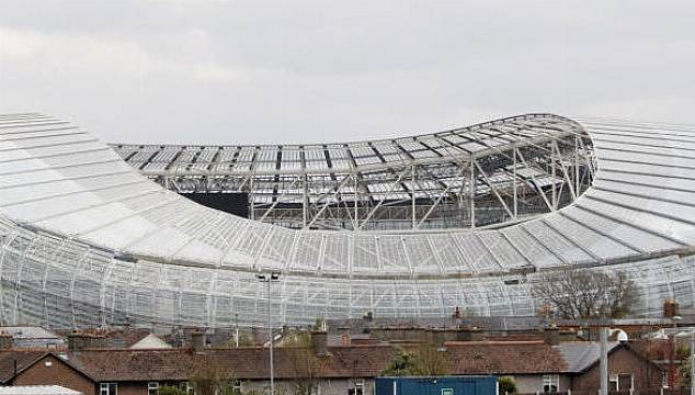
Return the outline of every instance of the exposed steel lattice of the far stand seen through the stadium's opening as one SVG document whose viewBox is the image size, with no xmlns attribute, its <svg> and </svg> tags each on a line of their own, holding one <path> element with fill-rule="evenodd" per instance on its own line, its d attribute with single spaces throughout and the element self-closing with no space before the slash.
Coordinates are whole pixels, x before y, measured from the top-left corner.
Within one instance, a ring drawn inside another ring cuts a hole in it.
<svg viewBox="0 0 695 395">
<path fill-rule="evenodd" d="M 593 177 L 581 126 L 546 114 L 389 140 L 112 147 L 164 188 L 244 192 L 252 219 L 290 228 L 498 225 L 574 201 Z"/>
</svg>

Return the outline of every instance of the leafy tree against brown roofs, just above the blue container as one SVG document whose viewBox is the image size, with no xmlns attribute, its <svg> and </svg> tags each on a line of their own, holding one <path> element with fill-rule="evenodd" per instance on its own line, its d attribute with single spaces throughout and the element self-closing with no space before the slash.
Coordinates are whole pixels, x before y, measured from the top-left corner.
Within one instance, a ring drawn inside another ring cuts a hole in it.
<svg viewBox="0 0 695 395">
<path fill-rule="evenodd" d="M 448 362 L 434 343 L 422 343 L 413 351 L 400 350 L 381 372 L 391 376 L 434 376 L 449 371 Z"/>
</svg>

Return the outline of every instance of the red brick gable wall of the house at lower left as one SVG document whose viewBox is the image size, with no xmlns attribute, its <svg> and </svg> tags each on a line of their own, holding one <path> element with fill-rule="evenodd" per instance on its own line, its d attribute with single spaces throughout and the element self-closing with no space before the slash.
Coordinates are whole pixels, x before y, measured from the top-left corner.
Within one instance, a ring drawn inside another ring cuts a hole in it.
<svg viewBox="0 0 695 395">
<path fill-rule="evenodd" d="M 47 364 L 50 364 L 47 366 Z M 94 383 L 58 358 L 46 356 L 31 368 L 20 373 L 14 385 L 60 385 L 84 395 L 95 395 Z"/>
</svg>

